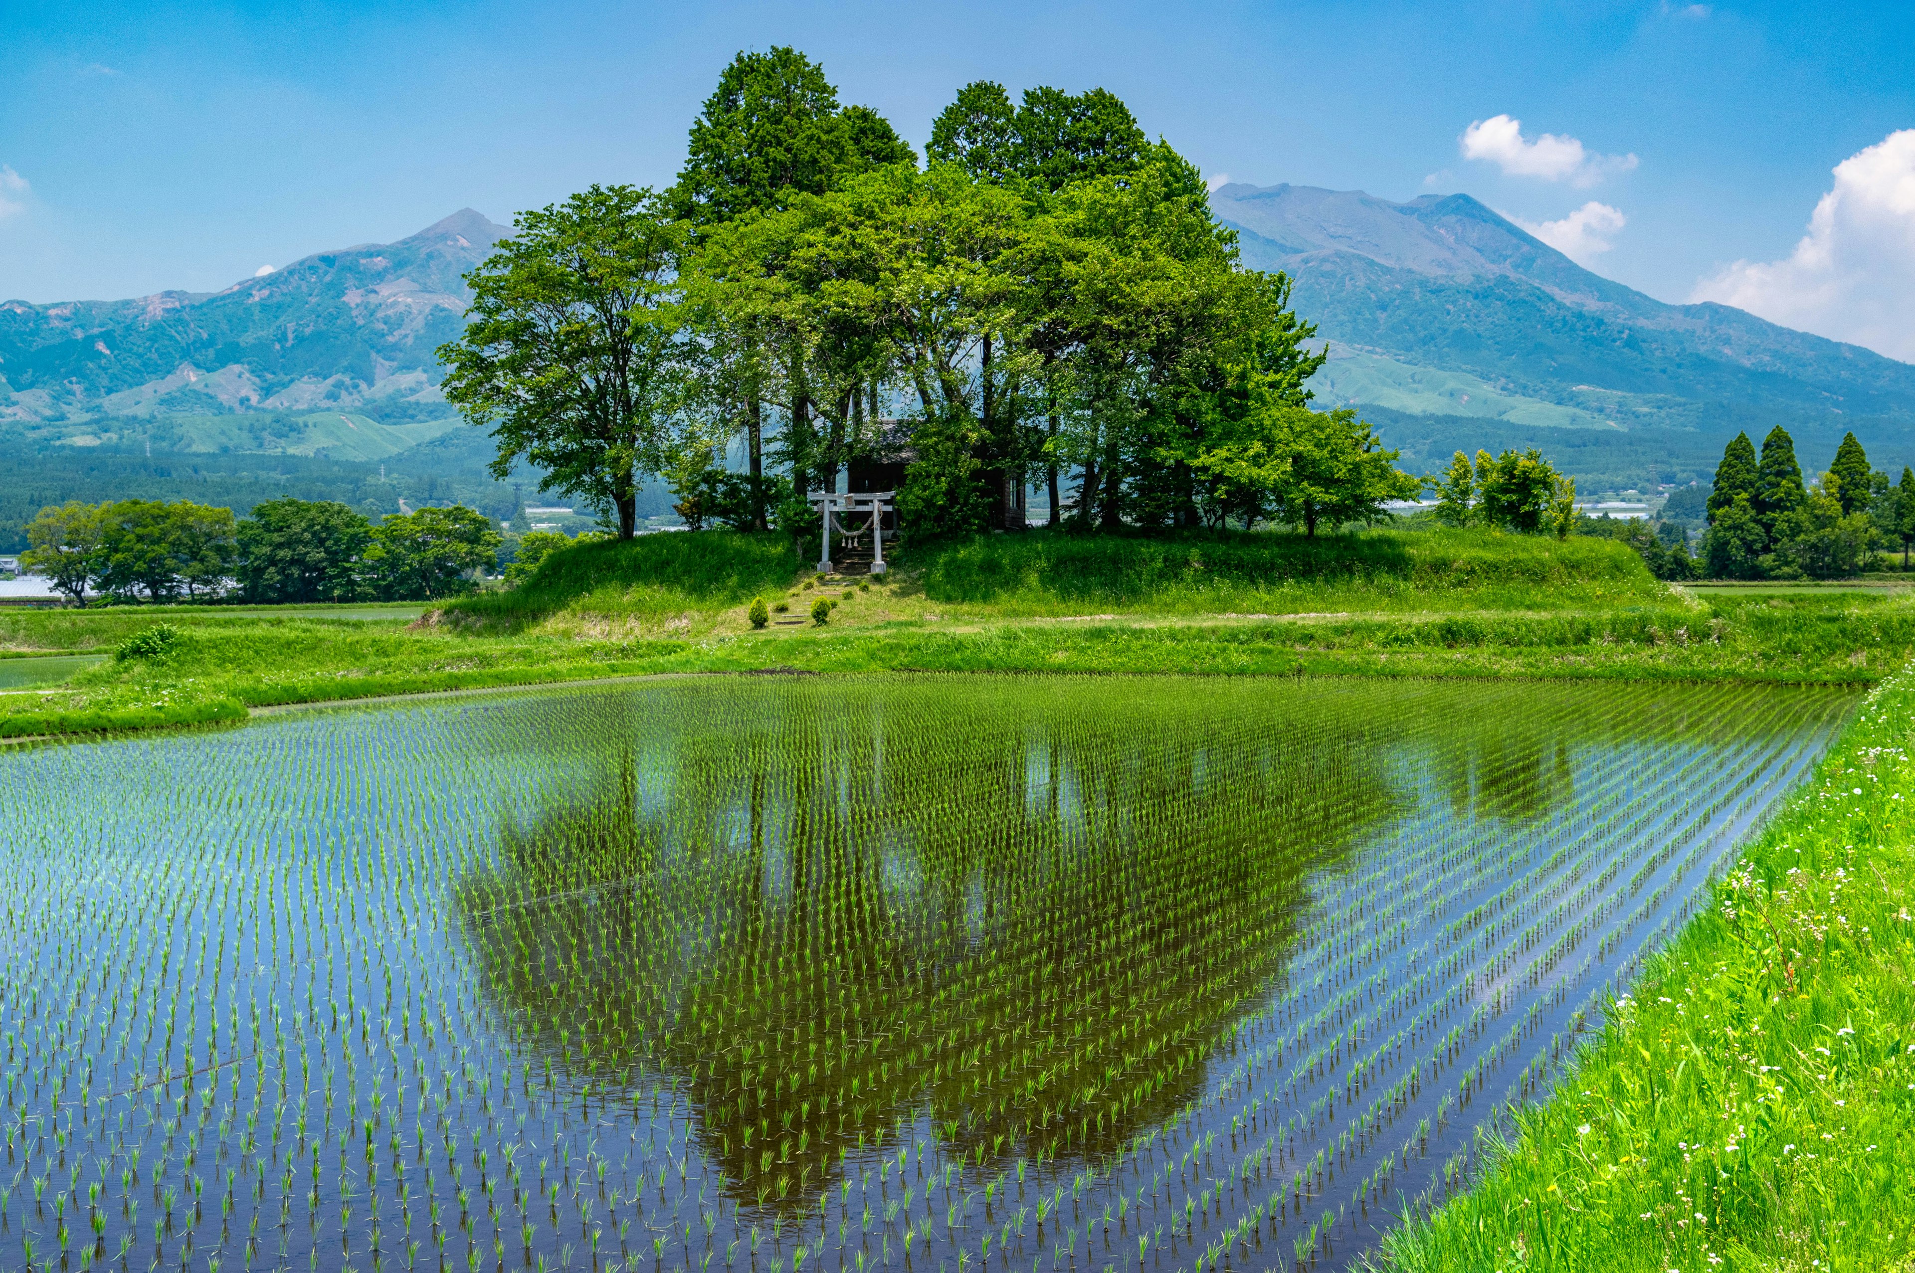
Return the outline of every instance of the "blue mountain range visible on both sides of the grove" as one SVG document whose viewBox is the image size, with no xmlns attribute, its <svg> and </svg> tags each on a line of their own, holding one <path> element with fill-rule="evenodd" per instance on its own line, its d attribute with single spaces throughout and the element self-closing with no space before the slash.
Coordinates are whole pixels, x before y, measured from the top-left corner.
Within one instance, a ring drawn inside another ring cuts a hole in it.
<svg viewBox="0 0 1915 1273">
<path fill-rule="evenodd" d="M 1362 408 L 1406 467 L 1540 446 L 1588 490 L 1678 484 L 1706 480 L 1737 429 L 1775 423 L 1808 469 L 1850 429 L 1879 465 L 1915 461 L 1915 366 L 1720 304 L 1664 304 L 1469 195 L 1229 184 L 1210 201 L 1245 264 L 1287 272 L 1329 343 L 1318 404 Z M 484 482 L 481 438 L 448 433 L 435 350 L 463 322 L 462 276 L 504 235 L 463 209 L 216 293 L 0 302 L 0 456 L 421 473 L 458 456 L 462 482 Z"/>
</svg>

